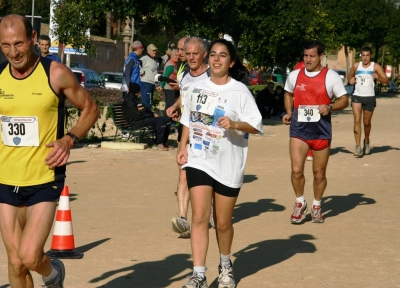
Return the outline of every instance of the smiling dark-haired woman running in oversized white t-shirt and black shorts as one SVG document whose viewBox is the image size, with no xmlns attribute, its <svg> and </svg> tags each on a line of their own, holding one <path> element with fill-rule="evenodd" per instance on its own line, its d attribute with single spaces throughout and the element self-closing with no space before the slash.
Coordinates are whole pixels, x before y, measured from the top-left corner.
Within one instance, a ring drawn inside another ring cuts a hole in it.
<svg viewBox="0 0 400 288">
<path fill-rule="evenodd" d="M 233 44 L 225 39 L 215 40 L 208 55 L 211 77 L 195 82 L 186 94 L 177 154 L 178 163 L 186 169 L 192 205 L 194 271 L 183 288 L 208 287 L 205 262 L 212 199 L 221 259 L 218 287 L 236 286 L 230 261 L 232 214 L 243 184 L 249 133 L 263 133 L 254 97 L 235 80 L 246 76 L 246 69 Z"/>
</svg>

